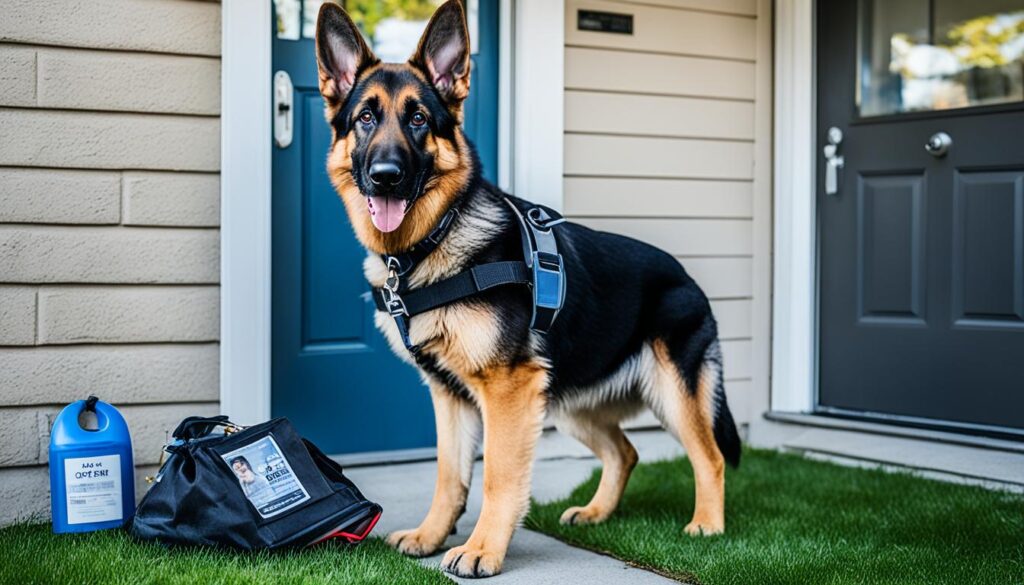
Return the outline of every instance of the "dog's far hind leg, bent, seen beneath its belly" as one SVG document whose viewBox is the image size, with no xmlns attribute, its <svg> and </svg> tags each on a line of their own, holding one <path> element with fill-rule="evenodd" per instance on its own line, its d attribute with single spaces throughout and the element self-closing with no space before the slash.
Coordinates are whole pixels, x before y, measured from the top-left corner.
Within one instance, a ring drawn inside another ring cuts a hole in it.
<svg viewBox="0 0 1024 585">
<path fill-rule="evenodd" d="M 620 417 L 601 411 L 575 411 L 562 415 L 558 430 L 575 437 L 601 460 L 601 482 L 586 506 L 562 513 L 563 525 L 597 524 L 615 511 L 630 473 L 637 464 L 637 450 L 618 426 Z"/>
</svg>

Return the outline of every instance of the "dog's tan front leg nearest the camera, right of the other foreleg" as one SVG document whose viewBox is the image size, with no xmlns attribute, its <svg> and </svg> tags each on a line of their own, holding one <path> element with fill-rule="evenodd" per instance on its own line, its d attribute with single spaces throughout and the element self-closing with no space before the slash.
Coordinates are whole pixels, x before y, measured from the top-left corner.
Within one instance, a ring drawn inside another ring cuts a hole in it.
<svg viewBox="0 0 1024 585">
<path fill-rule="evenodd" d="M 489 577 L 501 572 L 512 533 L 529 507 L 548 371 L 528 362 L 468 378 L 483 414 L 483 506 L 469 540 L 444 554 L 441 569 L 459 577 Z"/>
</svg>

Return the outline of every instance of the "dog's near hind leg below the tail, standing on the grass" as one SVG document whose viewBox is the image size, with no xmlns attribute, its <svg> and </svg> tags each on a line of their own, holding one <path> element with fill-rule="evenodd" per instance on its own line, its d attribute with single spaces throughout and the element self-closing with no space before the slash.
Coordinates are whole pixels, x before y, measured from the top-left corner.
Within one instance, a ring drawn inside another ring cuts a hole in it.
<svg viewBox="0 0 1024 585">
<path fill-rule="evenodd" d="M 716 442 L 716 417 L 728 417 L 733 434 L 735 427 L 728 407 L 724 407 L 724 413 L 718 410 L 719 402 L 725 404 L 724 394 L 720 401 L 717 396 L 721 391 L 721 360 L 716 358 L 718 341 L 699 348 L 692 376 L 684 374 L 682 360 L 674 357 L 678 352 L 666 341 L 658 339 L 651 345 L 656 372 L 641 392 L 662 424 L 683 444 L 693 466 L 695 503 L 693 518 L 685 531 L 693 536 L 719 534 L 725 530 L 725 457 Z M 692 356 L 692 348 L 688 349 Z M 688 384 L 687 378 L 692 382 Z M 731 462 L 731 446 L 727 451 Z M 738 461 L 738 436 L 735 460 Z"/>
</svg>

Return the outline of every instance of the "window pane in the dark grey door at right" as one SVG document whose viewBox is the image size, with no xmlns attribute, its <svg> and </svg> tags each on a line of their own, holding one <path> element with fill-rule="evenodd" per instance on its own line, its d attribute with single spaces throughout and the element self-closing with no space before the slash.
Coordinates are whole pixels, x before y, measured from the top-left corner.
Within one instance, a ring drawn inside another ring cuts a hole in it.
<svg viewBox="0 0 1024 585">
<path fill-rule="evenodd" d="M 861 116 L 1024 99 L 1024 0 L 862 0 Z"/>
</svg>

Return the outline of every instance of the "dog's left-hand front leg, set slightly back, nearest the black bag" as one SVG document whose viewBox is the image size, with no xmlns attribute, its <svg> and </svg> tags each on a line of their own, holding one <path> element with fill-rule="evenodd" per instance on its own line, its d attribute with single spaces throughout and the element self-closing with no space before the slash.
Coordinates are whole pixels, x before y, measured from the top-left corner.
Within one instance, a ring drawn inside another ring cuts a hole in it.
<svg viewBox="0 0 1024 585">
<path fill-rule="evenodd" d="M 430 395 L 437 423 L 434 499 L 419 528 L 391 533 L 387 539 L 388 544 L 411 556 L 427 556 L 436 551 L 465 511 L 480 434 L 480 414 L 476 407 L 433 382 Z"/>
</svg>

